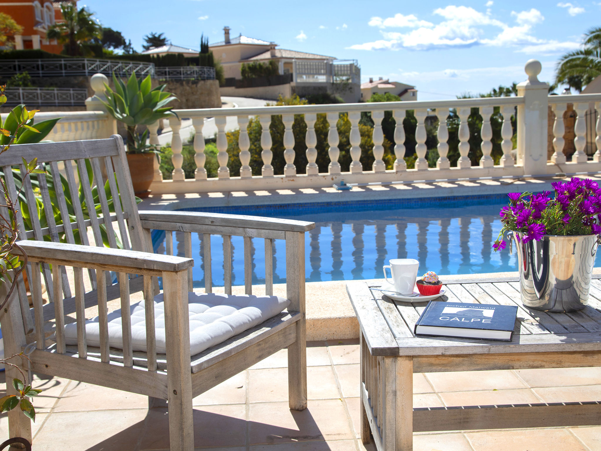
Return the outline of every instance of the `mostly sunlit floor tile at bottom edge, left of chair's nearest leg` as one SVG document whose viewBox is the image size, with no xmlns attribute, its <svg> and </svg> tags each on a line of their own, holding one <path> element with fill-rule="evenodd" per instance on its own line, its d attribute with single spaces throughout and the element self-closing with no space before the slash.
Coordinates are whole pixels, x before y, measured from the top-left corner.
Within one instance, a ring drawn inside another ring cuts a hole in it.
<svg viewBox="0 0 601 451">
<path fill-rule="evenodd" d="M 35 451 L 134 449 L 142 432 L 145 417 L 146 411 L 142 409 L 53 413 L 35 435 L 34 449 Z"/>
</svg>

